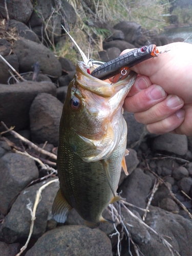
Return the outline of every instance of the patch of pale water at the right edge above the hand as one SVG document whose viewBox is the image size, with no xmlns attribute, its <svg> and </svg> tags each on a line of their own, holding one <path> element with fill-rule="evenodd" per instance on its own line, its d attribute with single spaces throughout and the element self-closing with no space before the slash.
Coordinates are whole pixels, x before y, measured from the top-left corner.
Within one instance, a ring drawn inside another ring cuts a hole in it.
<svg viewBox="0 0 192 256">
<path fill-rule="evenodd" d="M 165 30 L 161 35 L 171 38 L 182 37 L 185 42 L 192 44 L 192 27 L 168 29 Z"/>
</svg>

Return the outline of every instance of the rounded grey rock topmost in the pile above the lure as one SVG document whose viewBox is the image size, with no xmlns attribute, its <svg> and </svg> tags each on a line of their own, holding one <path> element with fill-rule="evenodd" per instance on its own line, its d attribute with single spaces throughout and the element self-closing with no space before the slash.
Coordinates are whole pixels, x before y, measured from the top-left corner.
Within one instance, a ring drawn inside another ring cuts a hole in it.
<svg viewBox="0 0 192 256">
<path fill-rule="evenodd" d="M 121 30 L 124 34 L 124 40 L 131 44 L 134 44 L 141 34 L 141 25 L 135 22 L 120 22 L 114 26 L 114 29 Z"/>
</svg>

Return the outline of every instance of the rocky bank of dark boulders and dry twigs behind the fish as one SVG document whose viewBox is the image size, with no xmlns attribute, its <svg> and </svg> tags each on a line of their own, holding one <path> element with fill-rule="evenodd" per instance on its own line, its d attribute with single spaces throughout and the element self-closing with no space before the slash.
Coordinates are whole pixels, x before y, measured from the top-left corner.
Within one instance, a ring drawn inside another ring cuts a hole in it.
<svg viewBox="0 0 192 256">
<path fill-rule="evenodd" d="M 16 2 L 16 8 L 12 8 Z M 61 9 L 68 14 L 66 20 L 75 24 L 74 9 L 66 1 L 61 2 Z M 51 207 L 59 186 L 58 126 L 75 66 L 66 58 L 58 59 L 41 33 L 46 31 L 42 17 L 49 18 L 51 3 L 38 1 L 34 10 L 30 0 L 8 2 L 9 23 L 4 1 L 0 3 L 0 53 L 22 74 L 14 75 L 0 60 L 0 121 L 5 123 L 0 126 L 0 255 L 19 253 L 34 221 L 22 255 L 190 256 L 192 137 L 149 134 L 132 113 L 124 113 L 129 130 L 129 176 L 122 172 L 119 192 L 125 201 L 110 205 L 104 212 L 108 219 L 115 220 L 115 225 L 101 224 L 90 229 L 74 210 L 65 225 L 53 220 Z M 94 26 L 107 26 L 112 32 L 112 40 L 103 42 L 104 50 L 99 53 L 103 61 L 117 57 L 125 48 L 171 42 L 169 38 L 144 35 L 138 24 Z M 58 28 L 56 41 L 63 33 Z M 14 130 L 5 133 L 11 126 Z M 36 193 L 42 186 L 41 200 L 32 218 Z"/>
</svg>

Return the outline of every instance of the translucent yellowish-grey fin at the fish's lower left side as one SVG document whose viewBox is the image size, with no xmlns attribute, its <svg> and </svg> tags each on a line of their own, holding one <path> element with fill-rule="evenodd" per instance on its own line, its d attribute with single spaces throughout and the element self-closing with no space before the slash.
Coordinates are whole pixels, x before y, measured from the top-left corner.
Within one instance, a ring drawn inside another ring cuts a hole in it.
<svg viewBox="0 0 192 256">
<path fill-rule="evenodd" d="M 52 206 L 52 215 L 57 222 L 64 223 L 67 220 L 67 217 L 72 210 L 72 206 L 67 202 L 65 197 L 62 195 L 59 188 L 57 195 L 54 199 Z"/>
</svg>

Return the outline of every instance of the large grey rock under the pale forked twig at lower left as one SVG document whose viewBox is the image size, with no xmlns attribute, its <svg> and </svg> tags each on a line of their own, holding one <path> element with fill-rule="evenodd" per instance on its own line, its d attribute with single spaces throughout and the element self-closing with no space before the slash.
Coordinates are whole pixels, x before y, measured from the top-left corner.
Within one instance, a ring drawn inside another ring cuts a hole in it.
<svg viewBox="0 0 192 256">
<path fill-rule="evenodd" d="M 20 193 L 2 224 L 0 231 L 1 241 L 14 243 L 27 240 L 31 225 L 31 212 L 27 207 L 33 209 L 37 190 L 49 181 L 50 179 L 27 187 Z M 49 221 L 54 222 L 55 225 L 53 227 L 56 227 L 57 222 L 52 219 L 51 209 L 58 188 L 59 183 L 53 182 L 42 190 L 42 198 L 36 210 L 32 239 L 38 239 L 45 233 Z"/>
</svg>

